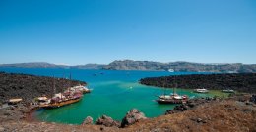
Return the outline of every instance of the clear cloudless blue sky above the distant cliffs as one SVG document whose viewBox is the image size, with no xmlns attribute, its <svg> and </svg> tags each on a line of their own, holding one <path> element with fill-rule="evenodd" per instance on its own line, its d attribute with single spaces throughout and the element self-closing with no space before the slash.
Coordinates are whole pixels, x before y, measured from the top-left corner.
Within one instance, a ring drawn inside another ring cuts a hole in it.
<svg viewBox="0 0 256 132">
<path fill-rule="evenodd" d="M 1 0 L 0 64 L 256 64 L 256 0 Z"/>
</svg>

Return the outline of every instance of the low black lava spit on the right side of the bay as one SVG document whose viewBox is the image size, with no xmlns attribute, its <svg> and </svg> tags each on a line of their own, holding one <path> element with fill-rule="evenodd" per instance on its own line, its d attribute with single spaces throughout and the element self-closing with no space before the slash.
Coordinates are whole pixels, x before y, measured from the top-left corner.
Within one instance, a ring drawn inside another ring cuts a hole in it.
<svg viewBox="0 0 256 132">
<path fill-rule="evenodd" d="M 256 73 L 194 74 L 163 77 L 149 77 L 140 83 L 158 87 L 212 90 L 233 89 L 239 92 L 256 93 Z"/>
</svg>

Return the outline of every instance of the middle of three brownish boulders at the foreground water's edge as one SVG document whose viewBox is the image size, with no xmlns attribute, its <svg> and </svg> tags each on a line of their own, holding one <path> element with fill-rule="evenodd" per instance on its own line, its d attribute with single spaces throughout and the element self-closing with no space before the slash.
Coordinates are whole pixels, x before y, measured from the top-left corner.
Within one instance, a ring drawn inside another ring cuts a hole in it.
<svg viewBox="0 0 256 132">
<path fill-rule="evenodd" d="M 113 120 L 111 117 L 102 115 L 96 120 L 96 125 L 104 125 L 106 127 L 120 127 L 120 122 Z"/>
</svg>

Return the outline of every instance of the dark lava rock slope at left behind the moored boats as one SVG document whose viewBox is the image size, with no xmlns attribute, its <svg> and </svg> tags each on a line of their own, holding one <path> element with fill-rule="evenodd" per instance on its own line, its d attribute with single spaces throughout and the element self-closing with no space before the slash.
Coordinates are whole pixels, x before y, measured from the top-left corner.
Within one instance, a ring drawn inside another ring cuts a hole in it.
<svg viewBox="0 0 256 132">
<path fill-rule="evenodd" d="M 69 86 L 86 84 L 86 82 L 60 78 L 0 72 L 0 103 L 10 98 L 23 98 L 30 103 L 35 97 L 51 96 L 54 82 L 56 92 L 61 92 Z"/>
</svg>

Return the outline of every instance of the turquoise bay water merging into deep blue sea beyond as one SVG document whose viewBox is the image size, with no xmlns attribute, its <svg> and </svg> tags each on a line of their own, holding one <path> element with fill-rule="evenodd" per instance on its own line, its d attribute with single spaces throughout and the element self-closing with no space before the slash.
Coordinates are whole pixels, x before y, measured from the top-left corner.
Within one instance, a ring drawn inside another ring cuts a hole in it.
<svg viewBox="0 0 256 132">
<path fill-rule="evenodd" d="M 113 71 L 113 70 L 82 70 L 82 69 L 25 69 L 0 68 L 1 71 L 26 73 L 42 76 L 68 77 L 86 81 L 92 93 L 84 95 L 81 102 L 52 110 L 37 110 L 36 118 L 42 121 L 81 124 L 87 116 L 94 120 L 102 114 L 121 120 L 128 110 L 133 108 L 143 111 L 147 117 L 164 114 L 165 110 L 173 109 L 174 105 L 159 105 L 154 100 L 163 90 L 158 87 L 145 86 L 138 83 L 140 78 L 177 74 L 195 74 L 193 72 L 165 71 Z M 172 90 L 167 90 L 171 93 Z M 207 96 L 192 93 L 191 90 L 177 89 L 179 94 L 190 97 Z"/>
</svg>

